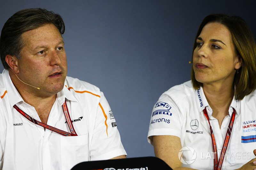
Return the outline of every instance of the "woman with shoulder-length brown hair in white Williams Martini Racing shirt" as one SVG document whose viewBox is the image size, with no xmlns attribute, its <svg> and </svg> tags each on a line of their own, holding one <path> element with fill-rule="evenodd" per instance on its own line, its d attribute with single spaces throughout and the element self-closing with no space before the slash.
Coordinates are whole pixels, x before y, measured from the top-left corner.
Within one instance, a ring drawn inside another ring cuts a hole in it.
<svg viewBox="0 0 256 170">
<path fill-rule="evenodd" d="M 256 168 L 256 45 L 249 27 L 239 17 L 207 16 L 192 59 L 192 80 L 164 92 L 153 108 L 148 142 L 156 157 L 173 169 Z"/>
</svg>

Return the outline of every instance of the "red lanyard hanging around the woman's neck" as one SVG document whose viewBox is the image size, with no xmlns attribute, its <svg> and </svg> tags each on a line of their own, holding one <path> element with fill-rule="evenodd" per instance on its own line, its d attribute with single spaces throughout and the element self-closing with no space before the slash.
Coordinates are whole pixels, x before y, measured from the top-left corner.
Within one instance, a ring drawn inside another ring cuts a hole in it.
<svg viewBox="0 0 256 170">
<path fill-rule="evenodd" d="M 205 117 L 208 120 L 209 125 L 210 125 L 210 131 L 211 131 L 211 137 L 212 137 L 212 147 L 213 147 L 214 158 L 215 158 L 214 159 L 214 170 L 220 170 L 221 166 L 223 164 L 223 159 L 224 159 L 225 153 L 227 151 L 228 142 L 229 142 L 229 139 L 230 139 L 230 136 L 231 136 L 231 131 L 232 131 L 235 116 L 236 116 L 236 111 L 234 109 L 234 111 L 232 113 L 232 116 L 231 116 L 231 119 L 230 119 L 230 122 L 229 122 L 229 125 L 228 125 L 228 130 L 227 130 L 227 133 L 226 133 L 226 137 L 225 137 L 225 140 L 224 140 L 224 144 L 223 144 L 222 150 L 220 152 L 219 161 L 218 161 L 218 155 L 217 155 L 216 141 L 215 141 L 215 137 L 214 137 L 214 134 L 213 134 L 213 131 L 212 131 L 212 126 L 210 124 L 209 116 L 208 116 L 207 111 L 206 111 L 206 107 L 204 108 L 203 111 L 204 111 L 204 115 L 205 115 Z"/>
</svg>

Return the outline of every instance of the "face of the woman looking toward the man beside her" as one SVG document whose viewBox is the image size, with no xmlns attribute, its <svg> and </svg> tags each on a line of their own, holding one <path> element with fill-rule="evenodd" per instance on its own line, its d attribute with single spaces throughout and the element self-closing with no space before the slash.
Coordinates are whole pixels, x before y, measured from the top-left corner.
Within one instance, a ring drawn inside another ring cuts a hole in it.
<svg viewBox="0 0 256 170">
<path fill-rule="evenodd" d="M 228 28 L 220 23 L 206 24 L 196 40 L 193 69 L 198 82 L 228 85 L 242 66 Z M 228 83 L 228 84 L 227 84 Z"/>
</svg>

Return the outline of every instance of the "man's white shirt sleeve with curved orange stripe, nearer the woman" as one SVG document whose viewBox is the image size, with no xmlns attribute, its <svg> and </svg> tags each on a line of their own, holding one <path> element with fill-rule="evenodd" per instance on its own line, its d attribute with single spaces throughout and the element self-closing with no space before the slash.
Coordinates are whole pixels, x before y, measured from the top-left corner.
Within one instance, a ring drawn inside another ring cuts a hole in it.
<svg viewBox="0 0 256 170">
<path fill-rule="evenodd" d="M 117 130 L 117 123 L 104 94 L 96 110 L 96 123 L 90 146 L 90 160 L 111 159 L 127 155 Z"/>
</svg>

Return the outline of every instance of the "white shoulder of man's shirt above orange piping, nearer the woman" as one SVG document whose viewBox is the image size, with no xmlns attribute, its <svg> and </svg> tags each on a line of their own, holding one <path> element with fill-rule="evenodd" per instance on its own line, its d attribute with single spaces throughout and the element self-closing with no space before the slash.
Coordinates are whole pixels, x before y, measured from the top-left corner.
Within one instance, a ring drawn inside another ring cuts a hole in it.
<svg viewBox="0 0 256 170">
<path fill-rule="evenodd" d="M 65 86 L 68 88 L 68 90 L 73 89 L 75 92 L 78 93 L 90 92 L 97 95 L 100 94 L 100 89 L 97 86 L 79 80 L 78 78 L 72 78 L 67 76 L 65 80 Z"/>
</svg>

